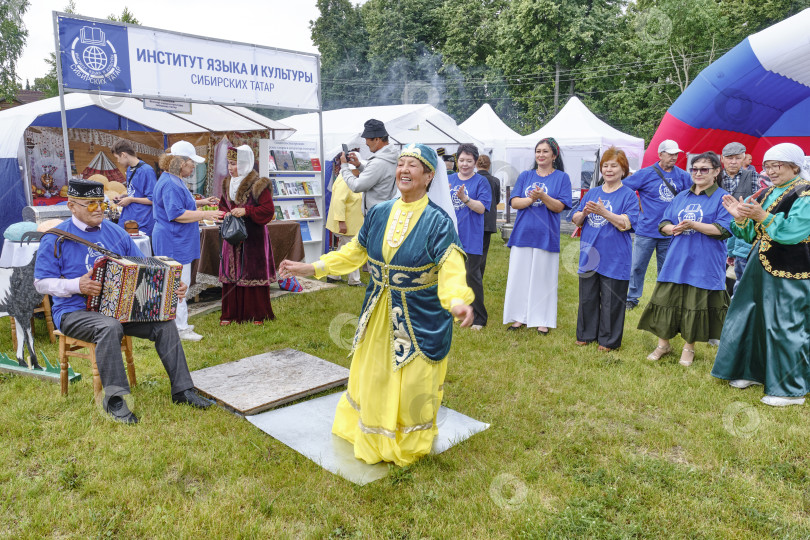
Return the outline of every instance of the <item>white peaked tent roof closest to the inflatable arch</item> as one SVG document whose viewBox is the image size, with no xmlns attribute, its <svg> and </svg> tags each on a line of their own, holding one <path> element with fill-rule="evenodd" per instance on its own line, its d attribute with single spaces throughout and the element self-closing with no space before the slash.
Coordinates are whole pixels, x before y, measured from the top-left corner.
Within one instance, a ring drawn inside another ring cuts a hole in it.
<svg viewBox="0 0 810 540">
<path fill-rule="evenodd" d="M 560 112 L 545 126 L 526 135 L 523 140 L 532 145 L 545 137 L 554 137 L 560 146 L 585 146 L 602 141 L 617 147 L 638 147 L 644 150 L 644 139 L 633 137 L 600 120 L 578 97 L 572 96 Z"/>
</svg>

